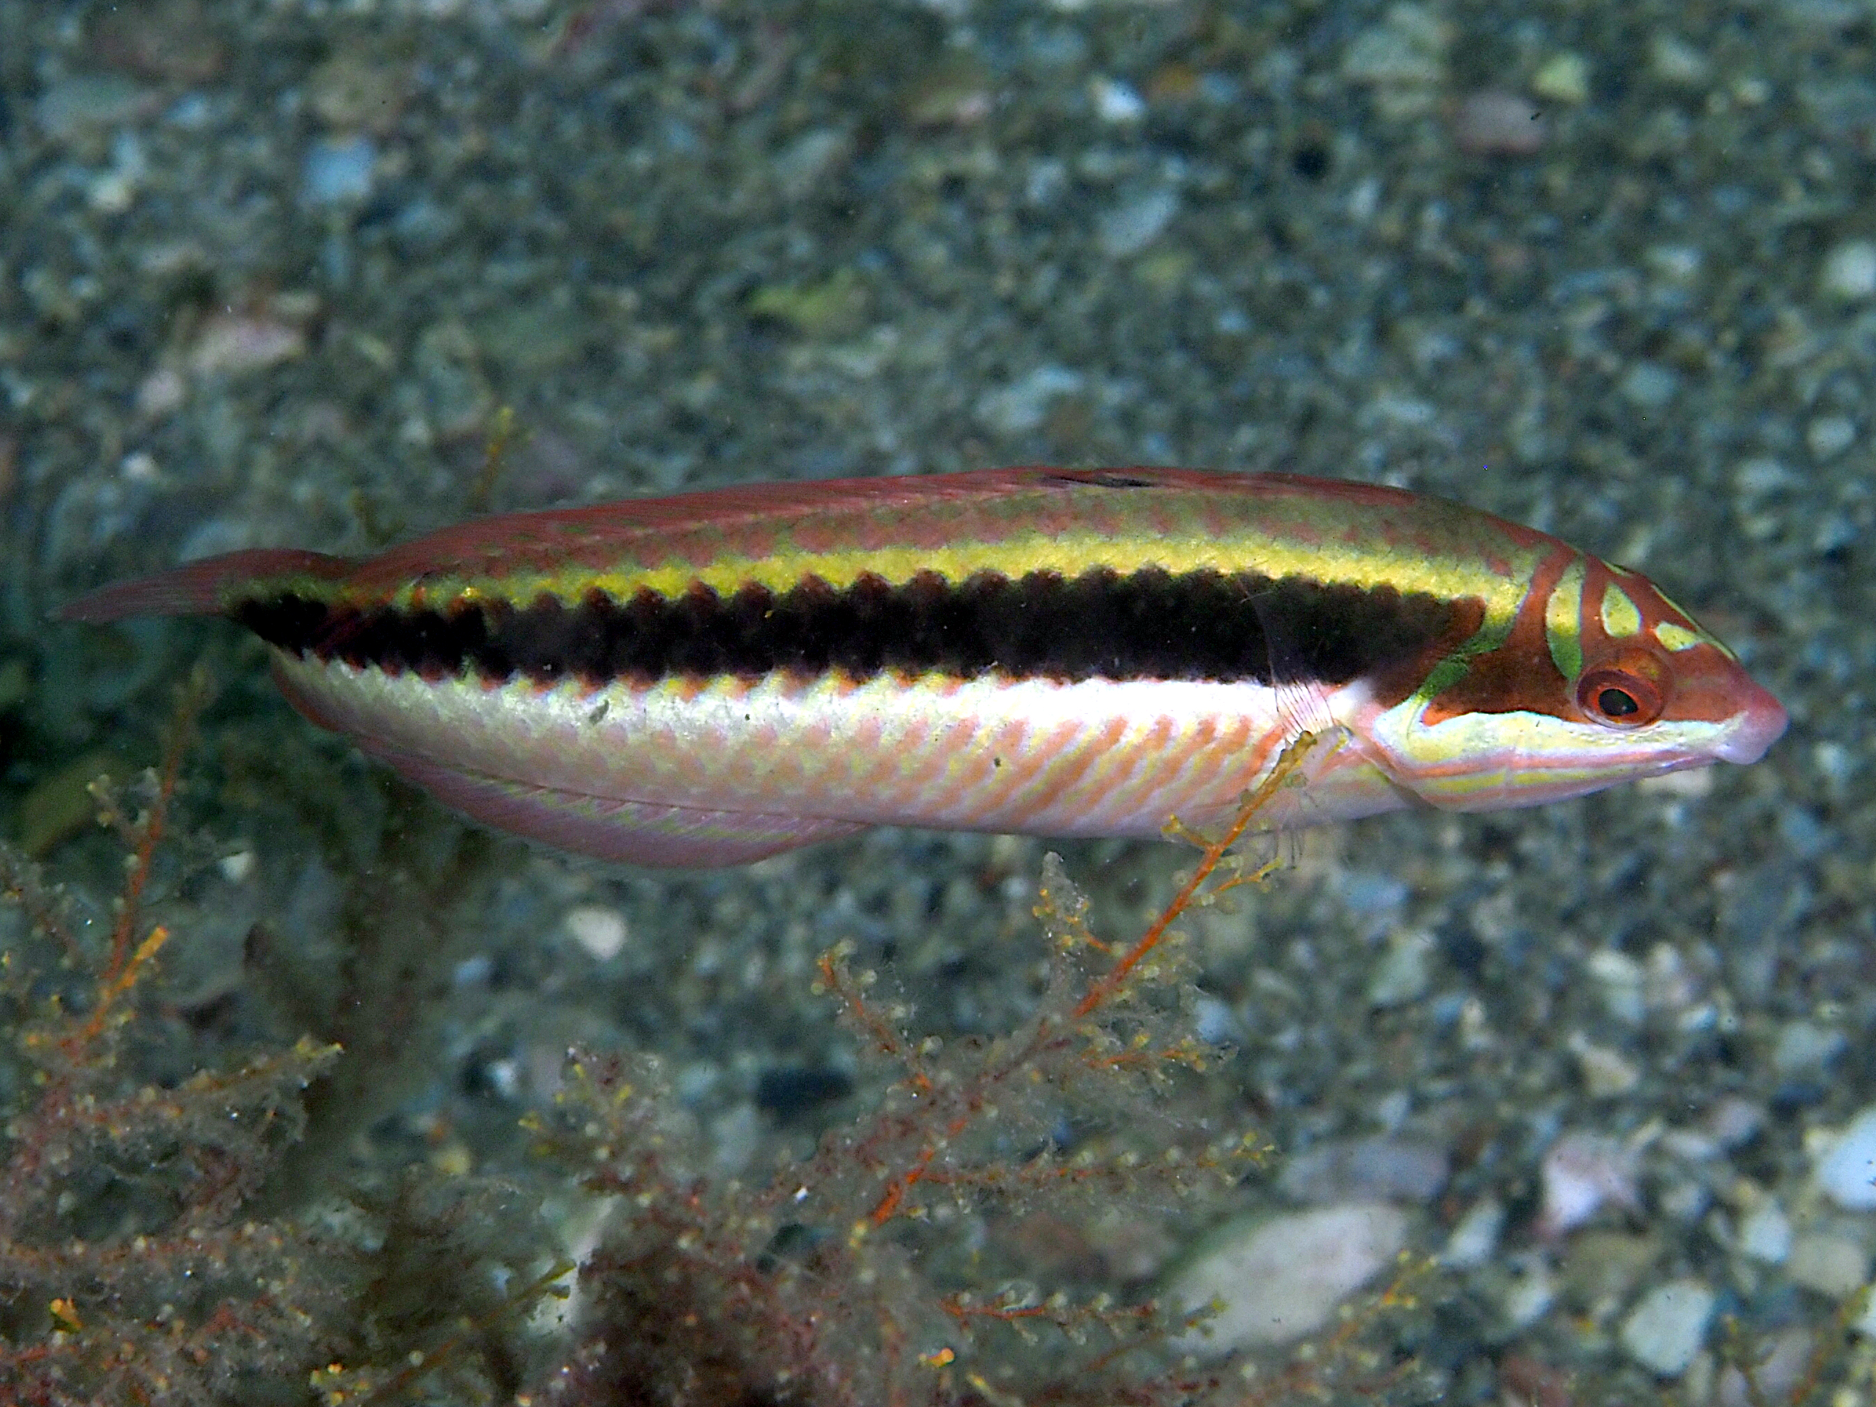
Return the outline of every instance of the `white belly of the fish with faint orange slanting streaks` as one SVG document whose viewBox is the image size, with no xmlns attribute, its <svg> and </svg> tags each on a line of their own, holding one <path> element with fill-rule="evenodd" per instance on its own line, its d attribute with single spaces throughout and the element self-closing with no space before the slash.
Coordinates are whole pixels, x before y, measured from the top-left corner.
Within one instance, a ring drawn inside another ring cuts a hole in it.
<svg viewBox="0 0 1876 1407">
<path fill-rule="evenodd" d="M 643 863 L 726 863 L 724 846 L 771 854 L 880 824 L 1032 835 L 1157 835 L 1174 816 L 1206 825 L 1296 732 L 1278 690 L 1257 683 L 887 673 L 542 687 L 289 655 L 276 672 L 308 717 L 452 805 Z M 1324 749 L 1270 820 L 1398 805 L 1358 749 Z M 516 807 L 546 820 L 529 824 Z M 687 855 L 687 837 L 715 848 Z"/>
</svg>

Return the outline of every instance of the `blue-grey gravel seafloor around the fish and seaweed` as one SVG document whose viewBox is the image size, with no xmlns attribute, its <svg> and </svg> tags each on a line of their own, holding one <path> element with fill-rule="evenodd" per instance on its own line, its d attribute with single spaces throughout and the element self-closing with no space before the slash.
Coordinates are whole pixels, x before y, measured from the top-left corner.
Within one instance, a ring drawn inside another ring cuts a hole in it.
<svg viewBox="0 0 1876 1407">
<path fill-rule="evenodd" d="M 1309 837 L 1208 915 L 1221 1099 L 1279 1150 L 1234 1206 L 1463 1233 L 1452 1401 L 1536 1392 L 1518 1362 L 1745 1403 L 1722 1339 L 1795 1377 L 1876 1249 L 1816 1178 L 1876 1103 L 1872 75 L 1853 0 L 0 0 L 0 827 L 107 876 L 75 779 L 148 762 L 214 657 L 206 1006 L 411 810 L 231 628 L 43 619 L 186 555 L 1022 461 L 1458 497 L 1647 570 L 1792 730 L 1752 769 Z M 1062 850 L 1111 930 L 1188 861 Z M 664 1052 L 722 1165 L 767 1157 L 846 1109 L 814 955 L 854 938 L 921 1026 L 1006 1030 L 1041 854 L 495 846 L 347 1156 L 525 1165 L 583 1039 Z"/>
</svg>

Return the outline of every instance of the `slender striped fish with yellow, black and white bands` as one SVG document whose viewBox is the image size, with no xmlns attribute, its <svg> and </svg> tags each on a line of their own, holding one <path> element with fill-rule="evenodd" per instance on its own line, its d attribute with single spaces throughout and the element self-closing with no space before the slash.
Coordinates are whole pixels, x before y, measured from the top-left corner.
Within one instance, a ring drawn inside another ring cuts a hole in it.
<svg viewBox="0 0 1876 1407">
<path fill-rule="evenodd" d="M 1203 833 L 1495 810 L 1786 728 L 1638 572 L 1446 499 L 1294 475 L 985 469 L 257 548 L 64 621 L 225 615 L 280 688 L 467 816 L 651 867 L 872 825 Z"/>
</svg>

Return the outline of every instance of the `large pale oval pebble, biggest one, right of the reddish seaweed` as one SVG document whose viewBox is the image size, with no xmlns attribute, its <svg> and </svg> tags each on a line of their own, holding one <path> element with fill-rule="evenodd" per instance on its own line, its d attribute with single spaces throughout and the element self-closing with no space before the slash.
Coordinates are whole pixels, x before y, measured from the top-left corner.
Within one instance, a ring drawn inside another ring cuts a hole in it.
<svg viewBox="0 0 1876 1407">
<path fill-rule="evenodd" d="M 1229 1223 L 1172 1279 L 1169 1298 L 1182 1313 L 1219 1306 L 1174 1347 L 1219 1358 L 1313 1334 L 1405 1246 L 1405 1214 L 1379 1204 Z"/>
</svg>

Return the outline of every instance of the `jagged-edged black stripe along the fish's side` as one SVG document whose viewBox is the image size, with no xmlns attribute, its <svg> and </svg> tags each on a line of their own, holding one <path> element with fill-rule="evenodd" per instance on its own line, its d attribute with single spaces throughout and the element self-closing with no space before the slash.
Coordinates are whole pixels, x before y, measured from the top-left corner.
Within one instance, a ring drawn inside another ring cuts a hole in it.
<svg viewBox="0 0 1876 1407">
<path fill-rule="evenodd" d="M 234 617 L 272 645 L 386 672 L 540 683 L 885 670 L 1024 679 L 1319 681 L 1398 670 L 1448 638 L 1460 604 L 1394 587 L 1306 578 L 1109 568 L 1073 580 L 934 572 L 835 591 L 809 578 L 786 593 L 698 585 L 683 597 L 538 597 L 527 606 L 330 606 L 283 595 Z"/>
</svg>

